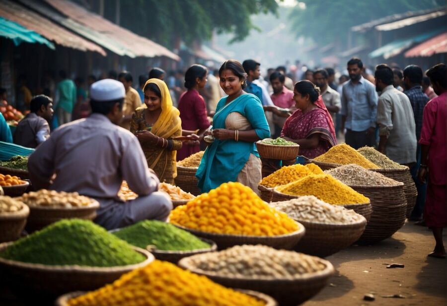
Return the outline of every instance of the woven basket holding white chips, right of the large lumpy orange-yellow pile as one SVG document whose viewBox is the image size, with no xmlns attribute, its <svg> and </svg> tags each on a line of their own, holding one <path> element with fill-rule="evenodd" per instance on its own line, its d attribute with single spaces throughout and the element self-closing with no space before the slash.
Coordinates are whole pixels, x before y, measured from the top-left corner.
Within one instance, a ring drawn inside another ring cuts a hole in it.
<svg viewBox="0 0 447 306">
<path fill-rule="evenodd" d="M 294 250 L 319 257 L 332 255 L 355 243 L 365 231 L 367 220 L 352 224 L 324 224 L 297 220 L 306 228 L 306 235 Z"/>
</svg>

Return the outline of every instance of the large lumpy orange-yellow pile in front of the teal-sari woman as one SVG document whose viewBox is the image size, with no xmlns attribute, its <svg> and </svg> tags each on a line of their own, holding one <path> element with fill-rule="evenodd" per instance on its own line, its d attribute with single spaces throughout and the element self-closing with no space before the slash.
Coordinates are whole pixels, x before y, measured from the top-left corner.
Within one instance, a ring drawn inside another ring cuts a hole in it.
<svg viewBox="0 0 447 306">
<path fill-rule="evenodd" d="M 265 203 L 249 187 L 224 183 L 176 207 L 169 222 L 217 234 L 277 236 L 295 232 L 298 225 Z"/>
</svg>

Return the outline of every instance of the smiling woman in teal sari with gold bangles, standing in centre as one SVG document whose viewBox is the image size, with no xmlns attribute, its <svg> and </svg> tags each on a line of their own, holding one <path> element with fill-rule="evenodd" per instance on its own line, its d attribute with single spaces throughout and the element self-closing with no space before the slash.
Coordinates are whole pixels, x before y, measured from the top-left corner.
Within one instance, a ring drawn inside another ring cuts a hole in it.
<svg viewBox="0 0 447 306">
<path fill-rule="evenodd" d="M 240 62 L 225 61 L 219 69 L 220 85 L 228 95 L 222 98 L 213 117 L 213 130 L 204 135 L 216 139 L 206 149 L 197 170 L 202 192 L 227 182 L 239 182 L 258 192 L 261 160 L 256 141 L 270 137 L 261 101 L 246 93 L 246 73 Z"/>
</svg>

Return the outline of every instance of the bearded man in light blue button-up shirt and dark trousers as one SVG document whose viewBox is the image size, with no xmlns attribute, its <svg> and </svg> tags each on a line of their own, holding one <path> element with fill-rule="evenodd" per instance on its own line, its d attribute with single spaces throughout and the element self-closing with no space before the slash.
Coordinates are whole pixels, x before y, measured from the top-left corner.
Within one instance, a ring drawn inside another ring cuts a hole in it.
<svg viewBox="0 0 447 306">
<path fill-rule="evenodd" d="M 358 58 L 348 61 L 350 80 L 343 84 L 340 114 L 345 142 L 358 149 L 375 146 L 377 93 L 375 86 L 362 76 L 363 62 Z"/>
</svg>

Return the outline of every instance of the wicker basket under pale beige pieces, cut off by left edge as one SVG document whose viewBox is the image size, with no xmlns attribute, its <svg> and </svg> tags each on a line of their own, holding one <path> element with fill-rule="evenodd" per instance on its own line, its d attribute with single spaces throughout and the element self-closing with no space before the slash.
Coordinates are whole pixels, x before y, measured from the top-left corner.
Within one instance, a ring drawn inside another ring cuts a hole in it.
<svg viewBox="0 0 447 306">
<path fill-rule="evenodd" d="M 17 212 L 0 214 L 0 242 L 17 240 L 25 227 L 28 215 L 29 208 L 26 205 Z"/>
</svg>

